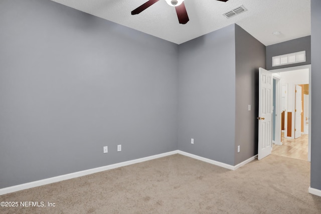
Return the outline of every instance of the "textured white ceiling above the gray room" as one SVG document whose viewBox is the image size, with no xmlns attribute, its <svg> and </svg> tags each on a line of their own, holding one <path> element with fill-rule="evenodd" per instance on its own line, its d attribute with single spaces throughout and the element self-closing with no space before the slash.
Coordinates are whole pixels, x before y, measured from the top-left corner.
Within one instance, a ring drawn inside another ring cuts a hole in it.
<svg viewBox="0 0 321 214">
<path fill-rule="evenodd" d="M 181 44 L 236 23 L 264 45 L 311 34 L 310 0 L 185 0 L 190 21 L 179 24 L 175 8 L 160 0 L 138 15 L 147 0 L 52 0 L 79 11 Z M 222 14 L 243 5 L 248 11 L 230 19 Z M 278 36 L 272 35 L 279 31 Z"/>
</svg>

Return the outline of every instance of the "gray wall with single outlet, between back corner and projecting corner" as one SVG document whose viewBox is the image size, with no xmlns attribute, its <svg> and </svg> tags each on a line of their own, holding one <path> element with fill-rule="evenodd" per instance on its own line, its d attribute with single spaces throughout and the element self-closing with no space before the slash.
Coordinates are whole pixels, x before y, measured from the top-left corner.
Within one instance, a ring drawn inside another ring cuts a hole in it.
<svg viewBox="0 0 321 214">
<path fill-rule="evenodd" d="M 230 25 L 179 46 L 178 148 L 231 165 L 235 145 L 234 31 Z"/>
</svg>

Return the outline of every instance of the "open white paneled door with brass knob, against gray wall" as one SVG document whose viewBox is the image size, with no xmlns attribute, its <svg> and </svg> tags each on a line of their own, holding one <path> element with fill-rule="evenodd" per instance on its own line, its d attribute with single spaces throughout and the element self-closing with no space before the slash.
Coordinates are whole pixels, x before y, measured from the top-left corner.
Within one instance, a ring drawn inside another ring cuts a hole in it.
<svg viewBox="0 0 321 214">
<path fill-rule="evenodd" d="M 263 68 L 259 68 L 259 160 L 271 154 L 272 150 L 272 107 L 272 73 Z"/>
</svg>

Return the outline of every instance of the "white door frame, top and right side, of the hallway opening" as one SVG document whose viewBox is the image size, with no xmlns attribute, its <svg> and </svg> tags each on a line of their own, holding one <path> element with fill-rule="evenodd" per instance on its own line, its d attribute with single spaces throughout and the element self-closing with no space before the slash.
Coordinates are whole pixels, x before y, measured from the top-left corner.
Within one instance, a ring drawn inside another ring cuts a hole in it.
<svg viewBox="0 0 321 214">
<path fill-rule="evenodd" d="M 301 69 L 308 69 L 309 70 L 309 131 L 308 131 L 308 153 L 307 153 L 307 160 L 311 161 L 311 65 L 302 65 L 296 67 L 289 67 L 289 68 L 281 68 L 281 69 L 274 69 L 270 70 L 273 73 L 279 73 L 284 71 L 295 71 Z"/>
</svg>

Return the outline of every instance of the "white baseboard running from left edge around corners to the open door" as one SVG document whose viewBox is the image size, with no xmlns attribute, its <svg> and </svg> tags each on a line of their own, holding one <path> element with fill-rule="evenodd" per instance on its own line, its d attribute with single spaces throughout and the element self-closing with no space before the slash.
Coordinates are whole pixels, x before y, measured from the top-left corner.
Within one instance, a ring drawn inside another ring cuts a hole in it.
<svg viewBox="0 0 321 214">
<path fill-rule="evenodd" d="M 166 152 L 166 153 L 162 153 L 162 154 L 156 154 L 156 155 L 152 155 L 152 156 L 148 156 L 148 157 L 138 158 L 135 160 L 129 160 L 129 161 L 115 163 L 115 164 L 111 164 L 111 165 L 107 165 L 107 166 L 101 166 L 101 167 L 97 167 L 97 168 L 92 168 L 92 169 L 87 169 L 87 170 L 83 170 L 83 171 L 78 171 L 78 172 L 73 172 L 73 173 L 69 173 L 69 174 L 50 177 L 50 178 L 46 178 L 46 179 L 42 179 L 42 180 L 36 180 L 33 182 L 29 182 L 29 183 L 23 183 L 23 184 L 19 184 L 19 185 L 15 185 L 15 186 L 9 186 L 9 187 L 0 189 L 0 195 L 23 190 L 23 189 L 29 189 L 29 188 L 36 187 L 36 186 L 42 186 L 45 184 L 55 183 L 55 182 L 59 182 L 59 181 L 63 181 L 63 180 L 71 179 L 71 178 L 81 177 L 84 175 L 93 174 L 96 172 L 101 172 L 101 171 L 114 169 L 114 168 L 118 168 L 118 167 L 122 167 L 122 166 L 127 166 L 127 165 L 131 165 L 134 163 L 140 163 L 140 162 L 144 162 L 147 160 L 152 160 L 152 159 L 165 157 L 165 156 L 169 156 L 169 155 L 173 155 L 173 154 L 182 154 L 182 155 L 185 155 L 188 157 L 192 157 L 194 159 L 198 159 L 198 160 L 208 162 L 208 163 L 211 163 L 211 164 L 214 164 L 217 166 L 221 166 L 221 167 L 224 167 L 227 169 L 231 169 L 231 170 L 236 170 L 239 167 L 251 162 L 252 160 L 255 159 L 255 156 L 256 156 L 255 155 L 255 156 L 253 156 L 253 157 L 251 157 L 251 158 L 249 158 L 249 159 L 247 159 L 247 160 L 245 160 L 235 166 L 232 166 L 232 165 L 229 165 L 226 163 L 222 163 L 222 162 L 219 162 L 216 160 L 201 157 L 201 156 L 191 154 L 191 153 L 188 153 L 185 151 L 174 150 L 174 151 L 170 151 L 170 152 Z"/>
</svg>

